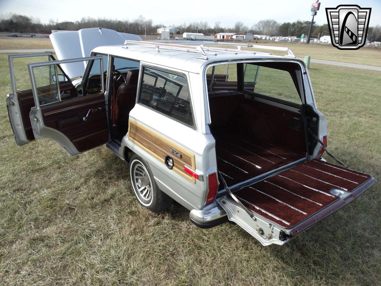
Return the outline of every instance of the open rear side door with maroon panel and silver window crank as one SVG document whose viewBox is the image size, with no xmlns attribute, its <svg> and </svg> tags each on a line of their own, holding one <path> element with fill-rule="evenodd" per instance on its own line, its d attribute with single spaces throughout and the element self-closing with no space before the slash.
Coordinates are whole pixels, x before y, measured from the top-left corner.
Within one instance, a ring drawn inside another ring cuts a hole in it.
<svg viewBox="0 0 381 286">
<path fill-rule="evenodd" d="M 62 71 L 78 62 L 85 73 L 70 79 Z M 51 138 L 75 155 L 107 143 L 102 56 L 28 64 L 35 107 L 30 111 L 34 137 Z M 82 79 L 81 79 L 82 78 Z"/>
</svg>

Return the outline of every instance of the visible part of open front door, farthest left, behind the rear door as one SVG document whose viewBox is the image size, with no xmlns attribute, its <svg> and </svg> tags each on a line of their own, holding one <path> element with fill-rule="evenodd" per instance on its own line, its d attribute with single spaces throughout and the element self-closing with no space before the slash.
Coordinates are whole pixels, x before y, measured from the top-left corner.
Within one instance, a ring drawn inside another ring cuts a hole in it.
<svg viewBox="0 0 381 286">
<path fill-rule="evenodd" d="M 13 129 L 14 139 L 21 146 L 35 140 L 29 112 L 35 106 L 26 61 L 54 61 L 52 53 L 9 55 L 12 93 L 7 95 L 6 106 Z"/>
</svg>

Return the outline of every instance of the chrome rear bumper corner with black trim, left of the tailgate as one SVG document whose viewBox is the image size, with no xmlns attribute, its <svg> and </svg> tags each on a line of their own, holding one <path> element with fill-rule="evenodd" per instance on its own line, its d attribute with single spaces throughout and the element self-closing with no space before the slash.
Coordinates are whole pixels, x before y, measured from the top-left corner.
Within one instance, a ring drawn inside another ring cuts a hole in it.
<svg viewBox="0 0 381 286">
<path fill-rule="evenodd" d="M 213 202 L 202 210 L 192 209 L 189 219 L 201 228 L 215 227 L 228 220 L 225 210 L 217 202 Z"/>
</svg>

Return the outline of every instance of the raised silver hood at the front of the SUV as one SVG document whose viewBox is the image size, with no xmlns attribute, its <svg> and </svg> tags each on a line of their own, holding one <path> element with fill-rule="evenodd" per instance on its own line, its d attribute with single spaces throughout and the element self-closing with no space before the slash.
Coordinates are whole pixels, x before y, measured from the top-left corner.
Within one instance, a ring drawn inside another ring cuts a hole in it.
<svg viewBox="0 0 381 286">
<path fill-rule="evenodd" d="M 58 32 L 50 34 L 57 58 L 74 59 L 90 56 L 91 51 L 100 46 L 123 45 L 125 40 L 141 41 L 138 35 L 119 33 L 110 29 L 88 28 L 79 31 Z M 72 79 L 82 76 L 86 62 L 62 64 L 66 74 Z"/>
</svg>

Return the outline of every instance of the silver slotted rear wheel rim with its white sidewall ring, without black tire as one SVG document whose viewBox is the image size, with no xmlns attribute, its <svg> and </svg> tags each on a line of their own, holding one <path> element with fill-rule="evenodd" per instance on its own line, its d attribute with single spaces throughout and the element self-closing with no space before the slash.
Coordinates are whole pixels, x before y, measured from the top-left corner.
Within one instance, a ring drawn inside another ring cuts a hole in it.
<svg viewBox="0 0 381 286">
<path fill-rule="evenodd" d="M 152 183 L 146 167 L 140 162 L 133 165 L 131 172 L 134 191 L 139 201 L 144 206 L 149 206 L 152 201 Z"/>
</svg>

